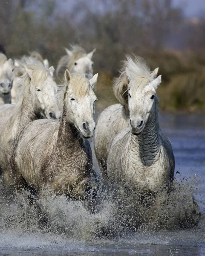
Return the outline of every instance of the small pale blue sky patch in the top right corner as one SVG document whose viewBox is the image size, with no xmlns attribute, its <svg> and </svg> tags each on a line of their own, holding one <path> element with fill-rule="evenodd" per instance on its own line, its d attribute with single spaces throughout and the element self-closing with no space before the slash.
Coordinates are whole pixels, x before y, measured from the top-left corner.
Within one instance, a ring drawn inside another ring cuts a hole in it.
<svg viewBox="0 0 205 256">
<path fill-rule="evenodd" d="M 175 6 L 181 6 L 188 17 L 205 17 L 205 0 L 173 0 Z"/>
</svg>

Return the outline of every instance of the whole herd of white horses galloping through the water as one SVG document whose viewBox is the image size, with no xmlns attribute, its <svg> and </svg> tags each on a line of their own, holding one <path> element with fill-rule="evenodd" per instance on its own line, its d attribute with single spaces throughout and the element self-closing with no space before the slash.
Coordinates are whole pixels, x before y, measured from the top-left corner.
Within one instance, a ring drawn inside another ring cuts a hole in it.
<svg viewBox="0 0 205 256">
<path fill-rule="evenodd" d="M 94 130 L 105 187 L 154 193 L 172 183 L 172 146 L 158 120 L 158 68 L 151 72 L 143 58 L 127 56 L 113 83 L 119 103 L 101 112 L 95 129 L 94 52 L 66 49 L 56 72 L 65 70 L 63 85 L 37 52 L 20 60 L 0 53 L 0 175 L 6 186 L 33 188 L 38 197 L 49 186 L 57 195 L 95 201 L 87 140 Z"/>
</svg>

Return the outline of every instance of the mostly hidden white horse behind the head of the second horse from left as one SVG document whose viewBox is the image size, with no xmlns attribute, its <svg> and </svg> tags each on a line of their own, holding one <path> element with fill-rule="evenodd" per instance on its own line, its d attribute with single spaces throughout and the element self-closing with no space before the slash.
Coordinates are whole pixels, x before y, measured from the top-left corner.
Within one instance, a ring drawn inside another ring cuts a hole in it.
<svg viewBox="0 0 205 256">
<path fill-rule="evenodd" d="M 25 65 L 32 64 L 43 64 L 47 69 L 49 69 L 49 61 L 47 59 L 43 59 L 43 57 L 38 52 L 31 52 L 29 57 L 23 55 L 23 57 L 20 60 L 14 60 L 14 79 L 11 90 L 12 104 L 17 104 L 19 100 L 21 90 L 21 76 L 26 72 Z M 54 69 L 51 73 L 52 76 L 53 73 Z"/>
</svg>

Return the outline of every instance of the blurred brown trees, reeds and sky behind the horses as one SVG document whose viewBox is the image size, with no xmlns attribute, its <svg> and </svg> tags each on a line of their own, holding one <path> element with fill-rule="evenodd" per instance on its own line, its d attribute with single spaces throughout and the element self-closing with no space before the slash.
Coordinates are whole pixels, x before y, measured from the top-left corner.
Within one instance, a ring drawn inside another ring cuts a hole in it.
<svg viewBox="0 0 205 256">
<path fill-rule="evenodd" d="M 38 51 L 57 67 L 64 47 L 96 48 L 97 110 L 116 102 L 112 79 L 125 54 L 159 67 L 161 111 L 205 112 L 205 0 L 1 0 L 8 57 Z"/>
</svg>

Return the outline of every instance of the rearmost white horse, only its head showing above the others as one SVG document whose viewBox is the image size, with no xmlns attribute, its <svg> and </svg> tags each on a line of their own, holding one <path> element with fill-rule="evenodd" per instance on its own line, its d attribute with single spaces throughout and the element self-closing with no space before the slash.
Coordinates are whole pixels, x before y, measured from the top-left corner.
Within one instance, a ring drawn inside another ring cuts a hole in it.
<svg viewBox="0 0 205 256">
<path fill-rule="evenodd" d="M 60 70 L 68 68 L 71 73 L 82 73 L 85 74 L 87 79 L 91 79 L 93 76 L 93 61 L 92 57 L 96 49 L 92 52 L 87 53 L 82 47 L 78 45 L 72 46 L 69 50 L 65 48 L 67 55 L 64 55 L 57 67 L 57 75 L 59 76 Z"/>
</svg>

